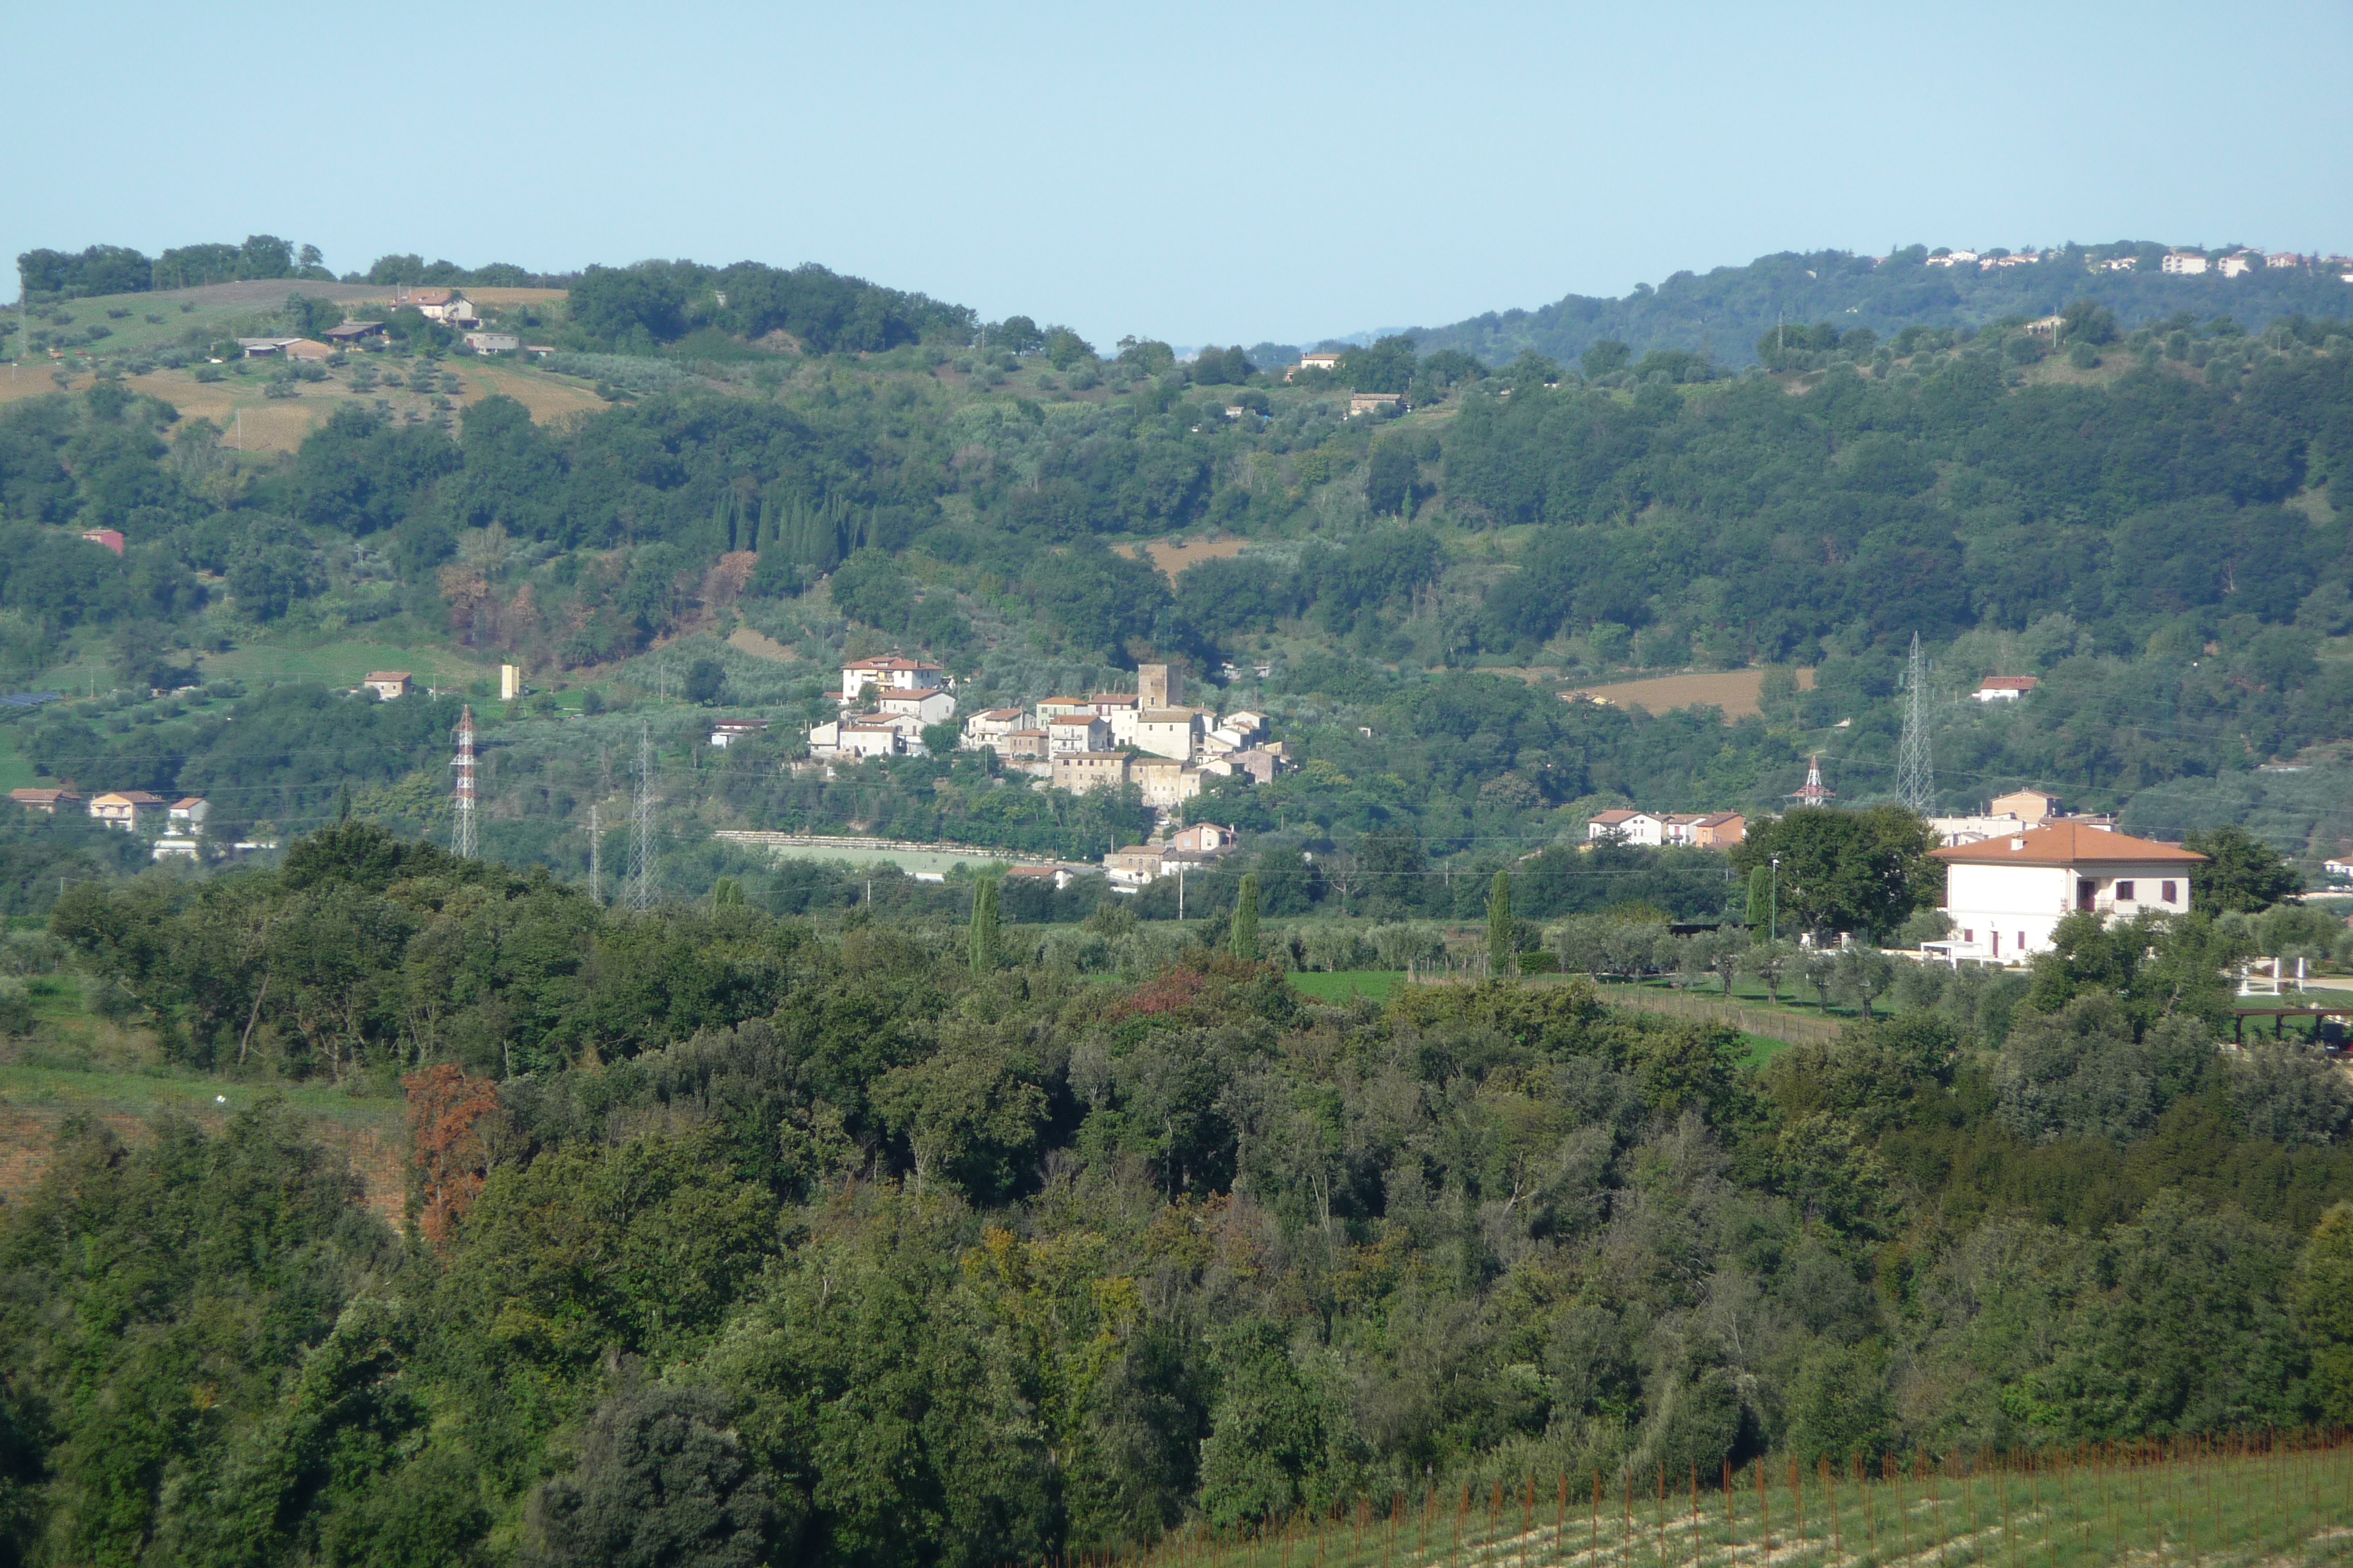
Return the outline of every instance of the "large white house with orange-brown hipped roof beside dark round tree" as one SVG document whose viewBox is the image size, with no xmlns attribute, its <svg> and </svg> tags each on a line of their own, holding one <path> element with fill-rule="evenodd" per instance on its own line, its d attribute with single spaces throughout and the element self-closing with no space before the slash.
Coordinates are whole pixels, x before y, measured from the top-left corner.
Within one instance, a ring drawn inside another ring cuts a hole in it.
<svg viewBox="0 0 2353 1568">
<path fill-rule="evenodd" d="M 2002 839 L 1932 849 L 1944 860 L 1953 936 L 1929 947 L 1955 959 L 2024 961 L 2049 952 L 2068 914 L 2132 919 L 2186 914 L 2205 856 L 2089 823 L 2054 820 Z"/>
</svg>

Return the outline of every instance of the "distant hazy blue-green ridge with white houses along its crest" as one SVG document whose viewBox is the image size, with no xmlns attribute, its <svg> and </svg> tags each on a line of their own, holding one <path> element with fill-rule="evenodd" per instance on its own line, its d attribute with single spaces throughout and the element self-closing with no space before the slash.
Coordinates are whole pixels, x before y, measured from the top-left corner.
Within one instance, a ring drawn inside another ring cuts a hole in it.
<svg viewBox="0 0 2353 1568">
<path fill-rule="evenodd" d="M 2235 249 L 2235 247 L 2224 247 Z M 1988 252 L 2007 254 L 2007 252 Z M 2221 256 L 2224 252 L 2214 252 Z M 1487 310 L 1466 322 L 1417 329 L 1428 348 L 1471 353 L 1501 364 L 1520 353 L 1577 360 L 1595 343 L 1626 343 L 1633 353 L 1685 350 L 1725 364 L 1748 364 L 1779 327 L 1833 322 L 1835 331 L 1864 329 L 1889 339 L 1906 327 L 1984 329 L 2005 317 L 2059 315 L 2078 299 L 2113 310 L 2127 327 L 2177 313 L 2219 313 L 2264 322 L 2306 313 L 2344 320 L 2353 289 L 2344 266 L 2257 266 L 2245 277 L 2217 270 L 2174 277 L 2160 270 L 2162 244 L 2066 244 L 2031 266 L 1981 270 L 1929 266 L 1929 249 L 1911 244 L 1887 256 L 1854 252 L 1779 252 L 1748 266 L 1675 273 L 1657 289 L 1635 284 L 1624 299 L 1569 294 L 1534 310 Z M 2129 256 L 2129 270 L 2106 263 Z"/>
</svg>

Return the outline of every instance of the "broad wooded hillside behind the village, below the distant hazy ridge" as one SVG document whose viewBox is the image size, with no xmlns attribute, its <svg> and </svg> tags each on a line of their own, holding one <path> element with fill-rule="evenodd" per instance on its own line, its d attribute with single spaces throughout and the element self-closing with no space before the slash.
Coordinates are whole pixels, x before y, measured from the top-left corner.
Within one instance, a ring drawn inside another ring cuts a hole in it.
<svg viewBox="0 0 2353 1568">
<path fill-rule="evenodd" d="M 1337 842 L 1405 830 L 1442 860 L 1529 853 L 1626 797 L 1769 806 L 1812 750 L 1871 797 L 1892 783 L 1899 651 L 1918 632 L 1941 665 L 1948 804 L 2033 783 L 2125 806 L 2127 825 L 2261 816 L 2282 844 L 2337 849 L 2332 802 L 2252 773 L 2346 733 L 2353 390 L 2329 322 L 2125 331 L 2085 303 L 2059 341 L 1805 329 L 1779 350 L 1791 369 L 1744 376 L 1612 346 L 1581 369 L 1489 374 L 1395 339 L 1285 383 L 1238 350 L 1101 360 L 1021 317 L 922 315 L 915 296 L 875 296 L 873 320 L 915 313 L 882 329 L 896 348 L 793 350 L 741 313 L 861 320 L 866 284 L 685 263 L 614 280 L 616 310 L 687 301 L 664 317 L 682 336 L 656 343 L 635 317 L 626 331 L 656 353 L 595 364 L 656 367 L 659 388 L 609 388 L 614 407 L 560 425 L 504 397 L 447 423 L 353 400 L 292 458 L 252 458 L 111 381 L 12 404 L 7 675 L 73 656 L 132 691 L 174 689 L 205 651 L 332 625 L 628 705 L 706 658 L 718 684 L 696 701 L 774 726 L 741 759 L 696 762 L 689 722 L 668 722 L 666 769 L 685 771 L 668 799 L 696 802 L 701 827 L 889 823 L 1092 858 L 1113 820 L 948 762 L 791 785 L 776 764 L 831 715 L 824 670 L 845 654 L 922 651 L 972 705 L 1104 689 L 1141 658 L 1191 665 L 1200 691 L 1231 665 L 1224 701 L 1273 710 L 1304 766 L 1202 811 Z M 435 353 L 416 329 L 384 364 L 431 381 Z M 1351 418 L 1348 386 L 1402 388 L 1414 411 Z M 120 529 L 125 555 L 80 541 L 89 527 Z M 1240 555 L 1172 581 L 1144 545 L 1179 534 Z M 798 658 L 729 646 L 734 628 Z M 1558 701 L 1748 663 L 1819 682 L 1774 672 L 1765 712 L 1732 726 Z M 99 684 L 85 670 L 71 684 Z M 1988 672 L 2042 689 L 2002 710 L 1958 701 Z M 191 769 L 228 710 L 174 701 L 56 710 L 19 750 L 94 788 L 134 759 L 144 788 L 221 785 Z M 492 766 L 527 788 L 494 806 L 515 835 L 501 851 L 576 875 L 616 733 L 534 717 L 485 719 L 515 719 Z M 353 771 L 405 792 L 393 820 L 419 830 L 426 750 L 419 731 Z M 318 783 L 271 764 L 224 820 L 315 825 Z"/>
</svg>

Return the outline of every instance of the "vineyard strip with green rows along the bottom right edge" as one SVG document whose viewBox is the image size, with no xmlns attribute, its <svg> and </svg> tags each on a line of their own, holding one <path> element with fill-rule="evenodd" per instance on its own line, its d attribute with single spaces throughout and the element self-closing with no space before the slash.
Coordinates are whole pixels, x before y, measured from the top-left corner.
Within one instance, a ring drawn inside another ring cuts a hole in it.
<svg viewBox="0 0 2353 1568">
<path fill-rule="evenodd" d="M 2353 1556 L 2337 1436 L 2085 1446 L 1984 1460 L 1758 1460 L 1675 1483 L 1553 1476 L 1280 1528 L 1195 1528 L 1104 1568 L 2294 1568 Z"/>
</svg>

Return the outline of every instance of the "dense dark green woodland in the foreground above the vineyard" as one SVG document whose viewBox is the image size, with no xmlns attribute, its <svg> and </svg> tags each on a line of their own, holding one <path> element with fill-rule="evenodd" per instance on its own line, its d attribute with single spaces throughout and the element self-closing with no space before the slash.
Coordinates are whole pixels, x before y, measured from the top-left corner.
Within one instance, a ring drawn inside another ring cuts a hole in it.
<svg viewBox="0 0 2353 1568">
<path fill-rule="evenodd" d="M 2207 917 L 1765 1070 L 1581 980 L 1313 1006 L 1242 917 L 1108 978 L 981 924 L 607 912 L 362 825 L 73 889 L 176 1051 L 405 1077 L 419 1208 L 242 1081 L 75 1128 L 0 1211 L 0 1540 L 979 1566 L 2353 1413 L 2353 1093 L 2148 985 Z"/>
</svg>

